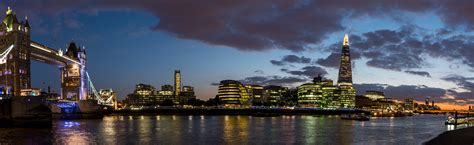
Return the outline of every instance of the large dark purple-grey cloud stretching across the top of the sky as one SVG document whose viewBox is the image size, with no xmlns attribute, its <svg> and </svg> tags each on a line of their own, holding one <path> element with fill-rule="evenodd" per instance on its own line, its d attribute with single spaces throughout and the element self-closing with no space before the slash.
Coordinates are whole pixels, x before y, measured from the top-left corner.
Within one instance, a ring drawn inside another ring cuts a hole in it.
<svg viewBox="0 0 474 145">
<path fill-rule="evenodd" d="M 96 12 L 138 10 L 148 12 L 160 22 L 152 30 L 169 32 L 179 38 L 243 51 L 286 49 L 294 52 L 318 44 L 329 34 L 346 29 L 342 22 L 362 16 L 400 19 L 400 12 L 434 13 L 448 26 L 473 30 L 472 2 L 459 1 L 304 1 L 304 0 L 18 0 L 2 1 L 24 13 Z M 366 37 L 397 42 L 391 31 Z M 387 37 L 385 37 L 387 36 Z M 377 45 L 378 41 L 373 41 Z"/>
</svg>

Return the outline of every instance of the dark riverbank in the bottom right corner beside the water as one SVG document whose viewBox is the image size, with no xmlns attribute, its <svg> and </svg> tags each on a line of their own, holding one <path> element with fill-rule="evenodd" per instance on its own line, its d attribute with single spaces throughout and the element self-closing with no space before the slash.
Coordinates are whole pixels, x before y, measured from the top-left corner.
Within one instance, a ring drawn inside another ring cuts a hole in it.
<svg viewBox="0 0 474 145">
<path fill-rule="evenodd" d="M 474 144 L 474 127 L 446 131 L 424 143 L 425 145 L 472 145 Z"/>
</svg>

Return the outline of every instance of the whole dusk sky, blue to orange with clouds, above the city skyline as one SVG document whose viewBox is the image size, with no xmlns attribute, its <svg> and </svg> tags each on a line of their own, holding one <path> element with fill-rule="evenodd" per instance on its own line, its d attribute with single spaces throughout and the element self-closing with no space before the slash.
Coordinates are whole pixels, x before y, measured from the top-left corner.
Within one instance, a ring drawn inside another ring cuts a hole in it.
<svg viewBox="0 0 474 145">
<path fill-rule="evenodd" d="M 33 41 L 85 46 L 96 88 L 119 98 L 137 83 L 172 85 L 175 69 L 200 99 L 224 79 L 336 81 L 348 33 L 359 94 L 474 105 L 472 0 L 4 0 L 0 10 L 8 6 L 28 16 Z M 56 66 L 33 62 L 32 73 L 34 87 L 58 92 Z"/>
</svg>

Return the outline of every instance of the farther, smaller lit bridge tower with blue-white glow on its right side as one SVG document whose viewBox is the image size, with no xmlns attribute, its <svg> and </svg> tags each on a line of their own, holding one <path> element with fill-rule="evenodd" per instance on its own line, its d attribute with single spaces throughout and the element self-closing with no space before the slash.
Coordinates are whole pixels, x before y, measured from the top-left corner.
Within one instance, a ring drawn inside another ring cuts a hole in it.
<svg viewBox="0 0 474 145">
<path fill-rule="evenodd" d="M 86 79 L 86 51 L 71 42 L 66 50 L 65 56 L 79 61 L 68 63 L 60 68 L 61 71 L 61 96 L 67 100 L 92 99 L 87 96 L 88 83 Z"/>
</svg>

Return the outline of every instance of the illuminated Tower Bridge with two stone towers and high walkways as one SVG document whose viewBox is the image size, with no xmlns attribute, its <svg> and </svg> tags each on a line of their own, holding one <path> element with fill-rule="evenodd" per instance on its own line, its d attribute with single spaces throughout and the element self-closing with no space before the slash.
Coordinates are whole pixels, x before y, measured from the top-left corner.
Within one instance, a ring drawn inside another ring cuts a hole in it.
<svg viewBox="0 0 474 145">
<path fill-rule="evenodd" d="M 31 61 L 39 61 L 59 68 L 61 100 L 93 99 L 102 105 L 113 105 L 115 96 L 104 97 L 94 88 L 86 60 L 85 49 L 74 42 L 63 52 L 31 40 L 28 19 L 25 17 L 20 22 L 8 8 L 0 24 L 0 93 L 3 96 L 17 97 L 21 96 L 21 90 L 31 90 Z M 59 104 L 68 106 L 70 103 Z"/>
</svg>

